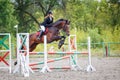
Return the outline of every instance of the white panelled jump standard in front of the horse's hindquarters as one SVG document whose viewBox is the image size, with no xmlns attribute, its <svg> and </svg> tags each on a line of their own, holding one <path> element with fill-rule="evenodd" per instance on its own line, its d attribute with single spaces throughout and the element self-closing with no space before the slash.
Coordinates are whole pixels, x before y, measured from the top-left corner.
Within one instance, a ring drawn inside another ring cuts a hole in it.
<svg viewBox="0 0 120 80">
<path fill-rule="evenodd" d="M 13 73 L 20 72 L 29 77 L 29 33 L 17 34 L 17 65 Z"/>
</svg>

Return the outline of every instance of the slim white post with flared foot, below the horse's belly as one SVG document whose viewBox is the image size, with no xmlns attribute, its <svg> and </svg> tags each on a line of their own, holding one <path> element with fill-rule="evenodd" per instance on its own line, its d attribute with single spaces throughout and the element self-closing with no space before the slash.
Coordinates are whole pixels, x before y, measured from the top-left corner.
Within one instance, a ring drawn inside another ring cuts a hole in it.
<svg viewBox="0 0 120 80">
<path fill-rule="evenodd" d="M 42 73 L 51 72 L 50 68 L 47 65 L 47 37 L 44 36 L 44 67 L 40 71 Z"/>
</svg>

